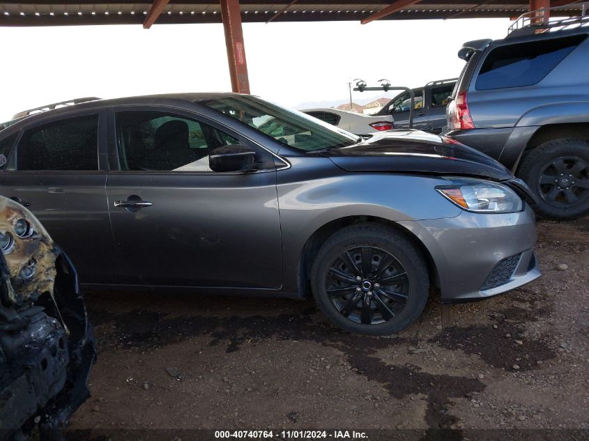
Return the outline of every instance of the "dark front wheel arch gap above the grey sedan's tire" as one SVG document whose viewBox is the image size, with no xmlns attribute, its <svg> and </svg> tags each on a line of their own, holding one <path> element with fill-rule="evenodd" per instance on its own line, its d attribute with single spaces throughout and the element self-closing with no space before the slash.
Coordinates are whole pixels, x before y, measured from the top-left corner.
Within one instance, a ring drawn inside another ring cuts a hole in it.
<svg viewBox="0 0 589 441">
<path fill-rule="evenodd" d="M 303 249 L 300 252 L 299 261 L 298 261 L 298 283 L 299 283 L 299 293 L 301 297 L 308 297 L 311 293 L 309 280 L 311 274 L 311 267 L 313 265 L 314 259 L 313 256 L 319 251 L 323 243 L 328 240 L 333 234 L 337 231 L 345 228 L 346 226 L 353 225 L 353 224 L 366 224 L 366 223 L 373 223 L 373 224 L 381 224 L 394 229 L 395 231 L 404 235 L 405 238 L 411 240 L 411 242 L 420 250 L 425 261 L 427 263 L 427 270 L 429 272 L 429 279 L 431 280 L 432 284 L 435 286 L 439 286 L 439 276 L 438 270 L 436 267 L 436 263 L 434 258 L 431 256 L 427 247 L 425 247 L 424 243 L 411 231 L 406 229 L 404 226 L 398 224 L 397 222 L 391 221 L 389 219 L 385 219 L 383 217 L 378 216 L 369 216 L 369 215 L 351 215 L 346 217 L 339 217 L 337 219 L 332 219 L 330 222 L 323 224 L 318 229 L 316 229 L 312 235 L 307 238 Z"/>
</svg>

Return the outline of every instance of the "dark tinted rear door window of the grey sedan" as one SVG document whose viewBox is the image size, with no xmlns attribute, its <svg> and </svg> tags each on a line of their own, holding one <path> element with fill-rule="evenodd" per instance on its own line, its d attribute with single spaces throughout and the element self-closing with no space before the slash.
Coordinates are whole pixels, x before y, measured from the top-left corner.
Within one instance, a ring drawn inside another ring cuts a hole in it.
<svg viewBox="0 0 589 441">
<path fill-rule="evenodd" d="M 98 115 L 26 130 L 18 143 L 17 169 L 98 171 Z"/>
</svg>

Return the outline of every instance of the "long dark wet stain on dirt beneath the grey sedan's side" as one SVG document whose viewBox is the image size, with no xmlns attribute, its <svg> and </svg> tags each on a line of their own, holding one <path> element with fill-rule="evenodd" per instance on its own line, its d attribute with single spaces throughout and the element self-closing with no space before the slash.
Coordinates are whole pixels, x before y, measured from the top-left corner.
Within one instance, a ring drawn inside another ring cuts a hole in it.
<svg viewBox="0 0 589 441">
<path fill-rule="evenodd" d="M 331 325 L 317 323 L 312 317 L 314 313 L 311 308 L 298 315 L 178 318 L 159 312 L 130 311 L 115 315 L 95 314 L 95 321 L 110 323 L 116 330 L 98 334 L 100 350 L 158 348 L 197 336 L 210 336 L 208 344 L 211 346 L 227 345 L 227 353 L 240 350 L 245 341 L 264 339 L 310 341 L 336 348 L 344 354 L 353 372 L 380 383 L 393 398 L 404 399 L 412 394 L 427 396 L 425 418 L 428 426 L 436 429 L 447 428 L 457 421 L 457 417 L 448 412 L 451 398 L 461 398 L 484 389 L 484 383 L 477 379 L 432 374 L 409 364 L 388 364 L 378 357 L 378 350 L 395 346 L 406 350 L 407 345 L 416 342 L 401 337 L 346 334 L 334 330 Z M 451 432 L 448 439 L 461 439 L 459 431 Z"/>
</svg>

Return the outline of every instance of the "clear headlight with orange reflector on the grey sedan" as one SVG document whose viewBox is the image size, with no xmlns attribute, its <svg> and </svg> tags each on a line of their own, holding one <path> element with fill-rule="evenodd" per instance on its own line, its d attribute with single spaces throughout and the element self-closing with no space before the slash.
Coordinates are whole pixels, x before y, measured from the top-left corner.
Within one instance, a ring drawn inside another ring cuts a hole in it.
<svg viewBox="0 0 589 441">
<path fill-rule="evenodd" d="M 474 212 L 521 211 L 521 198 L 510 187 L 487 180 L 456 178 L 450 185 L 438 185 L 436 190 L 460 208 Z"/>
</svg>

